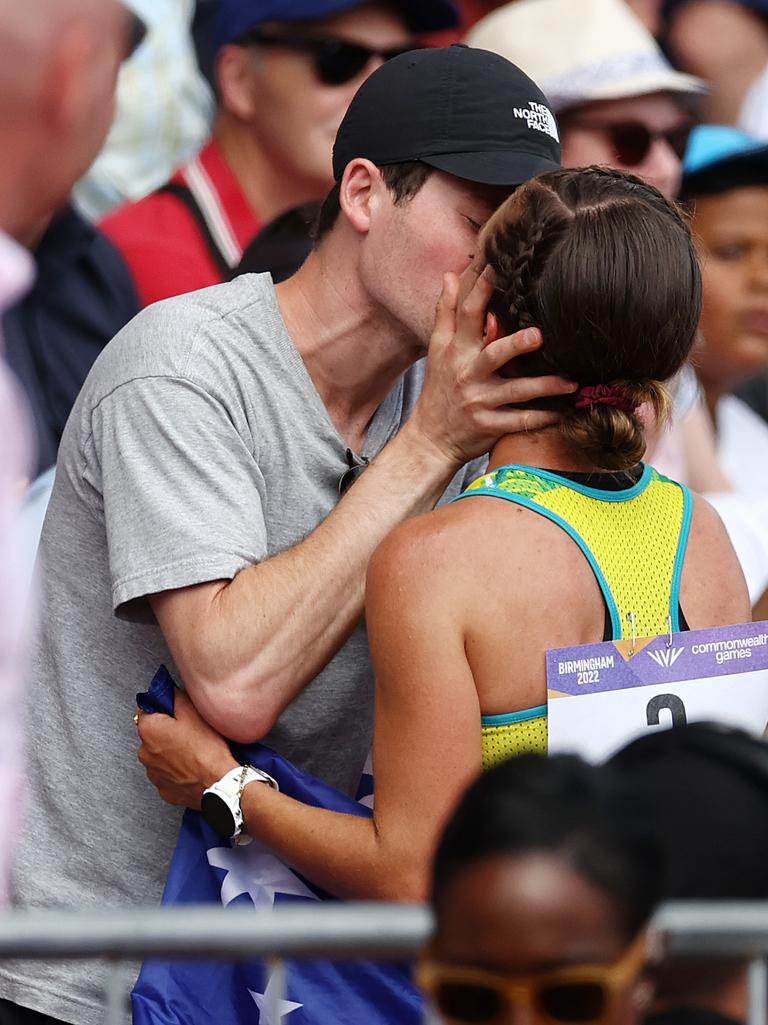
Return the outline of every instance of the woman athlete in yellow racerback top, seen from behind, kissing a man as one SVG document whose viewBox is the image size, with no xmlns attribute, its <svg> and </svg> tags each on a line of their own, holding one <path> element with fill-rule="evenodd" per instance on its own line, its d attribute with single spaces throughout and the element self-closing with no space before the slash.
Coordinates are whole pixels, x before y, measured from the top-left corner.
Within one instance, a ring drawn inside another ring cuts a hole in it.
<svg viewBox="0 0 768 1025">
<path fill-rule="evenodd" d="M 373 819 L 242 791 L 245 831 L 338 896 L 425 898 L 441 826 L 481 765 L 545 746 L 548 649 L 749 618 L 720 521 L 640 461 L 638 407 L 663 414 L 661 382 L 698 322 L 678 208 L 620 172 L 557 171 L 499 208 L 478 251 L 487 269 L 462 330 L 474 319 L 491 340 L 535 324 L 544 344 L 527 371 L 557 368 L 582 387 L 560 402 L 558 425 L 500 439 L 460 501 L 401 526 L 371 561 Z M 433 344 L 451 343 L 454 316 L 444 302 Z M 175 720 L 144 716 L 140 732 L 139 756 L 172 803 L 198 807 L 237 768 L 187 701 Z"/>
</svg>

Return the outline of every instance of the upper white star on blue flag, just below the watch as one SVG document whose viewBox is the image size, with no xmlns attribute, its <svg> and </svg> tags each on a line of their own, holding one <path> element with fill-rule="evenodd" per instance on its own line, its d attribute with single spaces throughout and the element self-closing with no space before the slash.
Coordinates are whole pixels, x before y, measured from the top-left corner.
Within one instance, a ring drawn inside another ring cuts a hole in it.
<svg viewBox="0 0 768 1025">
<path fill-rule="evenodd" d="M 225 905 L 241 894 L 248 894 L 256 907 L 272 907 L 278 893 L 318 899 L 287 865 L 255 842 L 245 847 L 210 848 L 208 864 L 227 872 L 221 884 Z"/>
</svg>

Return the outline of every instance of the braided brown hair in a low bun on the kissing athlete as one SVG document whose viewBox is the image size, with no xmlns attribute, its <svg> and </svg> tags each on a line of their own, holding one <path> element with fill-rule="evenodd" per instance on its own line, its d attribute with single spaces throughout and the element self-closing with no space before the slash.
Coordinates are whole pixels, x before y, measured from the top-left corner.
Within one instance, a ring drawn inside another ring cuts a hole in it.
<svg viewBox="0 0 768 1025">
<path fill-rule="evenodd" d="M 563 436 L 597 466 L 633 466 L 645 450 L 637 407 L 664 418 L 662 381 L 685 363 L 698 325 L 701 275 L 681 208 L 620 171 L 553 171 L 499 207 L 481 250 L 502 331 L 543 334 L 515 372 L 577 381 L 585 391 L 553 401 Z"/>
</svg>

